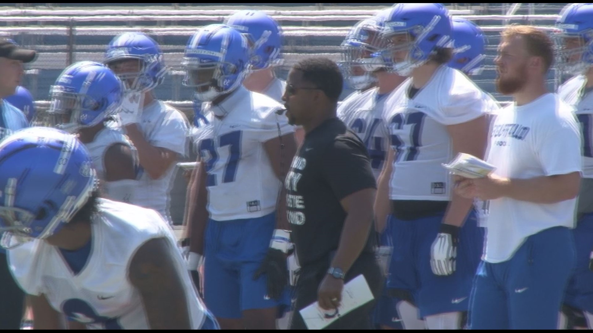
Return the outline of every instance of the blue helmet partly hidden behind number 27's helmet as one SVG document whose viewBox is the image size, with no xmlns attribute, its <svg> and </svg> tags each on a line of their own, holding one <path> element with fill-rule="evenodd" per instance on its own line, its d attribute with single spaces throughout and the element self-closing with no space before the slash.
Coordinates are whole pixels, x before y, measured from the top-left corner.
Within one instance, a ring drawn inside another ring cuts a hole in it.
<svg viewBox="0 0 593 333">
<path fill-rule="evenodd" d="M 225 24 L 247 35 L 250 71 L 282 65 L 282 29 L 273 18 L 261 11 L 242 10 L 229 16 Z"/>
</svg>

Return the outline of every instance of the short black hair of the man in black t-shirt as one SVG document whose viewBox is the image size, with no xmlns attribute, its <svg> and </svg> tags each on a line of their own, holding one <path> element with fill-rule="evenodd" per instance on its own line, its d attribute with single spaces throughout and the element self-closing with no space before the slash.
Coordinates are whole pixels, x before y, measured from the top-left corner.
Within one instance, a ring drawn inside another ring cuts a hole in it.
<svg viewBox="0 0 593 333">
<path fill-rule="evenodd" d="M 303 59 L 292 67 L 302 72 L 302 78 L 325 92 L 330 101 L 337 104 L 342 94 L 344 78 L 337 64 L 327 57 Z"/>
</svg>

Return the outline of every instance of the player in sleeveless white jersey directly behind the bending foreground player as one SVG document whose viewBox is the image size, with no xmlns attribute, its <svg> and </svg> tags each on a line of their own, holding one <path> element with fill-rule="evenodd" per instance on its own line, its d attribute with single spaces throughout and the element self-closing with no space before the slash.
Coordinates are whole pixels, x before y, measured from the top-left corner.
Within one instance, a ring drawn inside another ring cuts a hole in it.
<svg viewBox="0 0 593 333">
<path fill-rule="evenodd" d="M 109 68 L 82 61 L 66 68 L 50 91 L 47 113 L 55 127 L 75 133 L 91 155 L 101 190 L 111 200 L 142 204 L 136 151 L 122 130 L 110 126 L 122 105 L 123 84 Z"/>
</svg>

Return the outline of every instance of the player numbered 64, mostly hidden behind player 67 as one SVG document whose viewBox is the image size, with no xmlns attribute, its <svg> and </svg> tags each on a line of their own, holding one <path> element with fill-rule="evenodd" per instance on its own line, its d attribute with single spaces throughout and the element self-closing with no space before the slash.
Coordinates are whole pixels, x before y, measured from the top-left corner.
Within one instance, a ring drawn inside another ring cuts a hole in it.
<svg viewBox="0 0 593 333">
<path fill-rule="evenodd" d="M 390 9 L 384 9 L 374 18 L 357 23 L 350 30 L 341 46 L 342 62 L 340 65 L 345 72 L 345 78 L 353 88 L 359 89 L 359 91 L 353 92 L 340 103 L 337 116 L 363 140 L 371 158 L 371 167 L 375 178 L 379 177 L 388 155 L 393 155 L 393 150 L 389 145 L 389 129 L 382 119 L 384 102 L 388 95 L 405 79 L 404 76 L 388 71 L 388 68 L 382 66 L 380 58 L 371 57 L 373 53 L 384 49 L 387 44 L 386 40 L 381 39 L 380 33 L 382 20 L 389 11 Z M 379 61 L 377 62 L 377 60 Z M 393 156 L 390 158 L 393 159 Z M 391 170 L 391 168 L 388 169 Z M 387 200 L 387 193 L 384 194 L 384 197 Z M 377 215 L 377 230 L 381 232 L 381 246 L 377 254 L 380 258 L 382 271 L 387 276 L 388 262 L 391 260 L 393 249 L 391 243 L 393 235 L 388 230 L 390 228 L 385 228 L 387 213 L 375 212 L 375 214 Z M 399 302 L 400 300 L 387 294 L 378 301 L 375 322 L 381 328 L 402 328 L 400 315 L 397 311 Z M 408 318 L 407 324 L 406 328 L 408 329 L 423 328 L 422 321 L 417 319 L 416 311 L 412 311 L 412 316 Z M 419 324 L 419 326 L 414 324 Z"/>
</svg>

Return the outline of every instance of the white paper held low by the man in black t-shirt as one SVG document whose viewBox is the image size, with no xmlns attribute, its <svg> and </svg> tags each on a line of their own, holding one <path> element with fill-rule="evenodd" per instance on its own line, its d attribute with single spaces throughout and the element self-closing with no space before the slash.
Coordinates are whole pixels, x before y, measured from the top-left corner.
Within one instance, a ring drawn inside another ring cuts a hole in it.
<svg viewBox="0 0 593 333">
<path fill-rule="evenodd" d="M 323 329 L 340 319 L 341 316 L 371 302 L 373 299 L 371 289 L 366 283 L 365 277 L 361 274 L 344 285 L 342 303 L 337 308 L 337 315 L 336 310 L 321 309 L 317 302 L 302 309 L 300 313 L 308 329 Z"/>
</svg>

